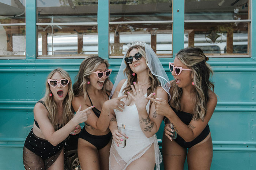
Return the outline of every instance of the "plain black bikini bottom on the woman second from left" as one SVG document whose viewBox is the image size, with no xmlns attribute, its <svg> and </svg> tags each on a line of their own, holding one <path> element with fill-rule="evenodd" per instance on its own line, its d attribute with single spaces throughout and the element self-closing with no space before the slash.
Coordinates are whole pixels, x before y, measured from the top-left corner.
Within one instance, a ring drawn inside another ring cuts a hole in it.
<svg viewBox="0 0 256 170">
<path fill-rule="evenodd" d="M 90 142 L 91 144 L 93 144 L 95 147 L 97 147 L 97 149 L 102 149 L 103 147 L 105 147 L 106 145 L 108 145 L 110 139 L 112 137 L 111 132 L 109 132 L 106 135 L 92 135 L 89 134 L 86 129 L 85 126 L 83 127 L 81 133 L 79 134 L 79 138 L 82 138 L 88 142 Z"/>
</svg>

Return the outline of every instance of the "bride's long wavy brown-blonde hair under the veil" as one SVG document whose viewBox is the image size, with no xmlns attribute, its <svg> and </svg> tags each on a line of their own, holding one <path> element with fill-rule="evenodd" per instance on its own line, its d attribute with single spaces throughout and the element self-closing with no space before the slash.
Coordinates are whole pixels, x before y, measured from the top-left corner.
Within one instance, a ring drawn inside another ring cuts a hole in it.
<svg viewBox="0 0 256 170">
<path fill-rule="evenodd" d="M 139 53 L 142 55 L 142 57 L 146 60 L 146 64 L 148 64 L 148 61 L 147 61 L 147 58 L 146 58 L 146 52 L 145 52 L 145 47 L 142 47 L 142 46 L 132 46 L 130 47 L 128 50 L 127 50 L 127 53 L 125 55 L 125 57 L 128 57 L 129 56 L 129 53 L 134 49 L 138 49 Z M 125 61 L 124 61 L 125 62 Z M 132 88 L 131 88 L 131 85 L 133 84 L 132 82 L 137 82 L 137 75 L 133 76 L 132 73 L 133 71 L 131 70 L 129 64 L 127 64 L 125 62 L 125 69 L 124 69 L 124 73 L 127 75 L 127 83 L 128 83 L 128 86 L 125 87 L 123 89 L 124 91 L 124 94 L 127 94 L 127 92 L 131 92 L 132 91 Z M 159 80 L 157 79 L 157 77 L 155 75 L 153 75 L 150 71 L 150 69 L 147 67 L 147 70 L 148 70 L 148 76 L 149 76 L 149 79 L 150 79 L 150 84 L 151 86 L 148 87 L 147 89 L 147 96 L 150 95 L 151 93 L 153 92 L 156 92 L 156 89 L 161 86 L 161 83 L 159 82 Z"/>
</svg>

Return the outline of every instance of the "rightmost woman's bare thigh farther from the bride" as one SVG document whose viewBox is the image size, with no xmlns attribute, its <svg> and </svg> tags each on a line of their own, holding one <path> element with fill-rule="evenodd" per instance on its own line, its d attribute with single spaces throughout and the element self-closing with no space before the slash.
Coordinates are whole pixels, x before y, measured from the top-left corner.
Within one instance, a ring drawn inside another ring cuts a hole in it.
<svg viewBox="0 0 256 170">
<path fill-rule="evenodd" d="M 189 170 L 210 170 L 212 161 L 212 139 L 209 134 L 202 142 L 188 150 Z"/>
</svg>

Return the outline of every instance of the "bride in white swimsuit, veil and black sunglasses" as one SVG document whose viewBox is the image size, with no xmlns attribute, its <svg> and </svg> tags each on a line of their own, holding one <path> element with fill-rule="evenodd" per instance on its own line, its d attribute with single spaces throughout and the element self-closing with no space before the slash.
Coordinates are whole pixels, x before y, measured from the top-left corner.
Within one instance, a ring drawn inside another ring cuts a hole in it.
<svg viewBox="0 0 256 170">
<path fill-rule="evenodd" d="M 109 169 L 157 170 L 162 161 L 157 133 L 163 116 L 157 115 L 154 103 L 147 96 L 168 99 L 169 80 L 154 51 L 145 43 L 128 44 L 116 82 L 110 94 L 113 98 L 128 94 L 122 99 L 123 112 L 113 110 L 109 129 L 113 135 Z M 126 127 L 126 139 L 118 130 Z M 122 147 L 126 141 L 126 146 Z"/>
</svg>

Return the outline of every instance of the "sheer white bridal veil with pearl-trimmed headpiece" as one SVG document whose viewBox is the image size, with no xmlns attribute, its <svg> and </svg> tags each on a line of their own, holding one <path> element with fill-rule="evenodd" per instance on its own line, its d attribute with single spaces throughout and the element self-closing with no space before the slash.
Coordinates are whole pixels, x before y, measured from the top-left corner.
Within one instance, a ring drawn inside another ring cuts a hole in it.
<svg viewBox="0 0 256 170">
<path fill-rule="evenodd" d="M 159 82 L 161 83 L 161 87 L 167 92 L 167 94 L 169 95 L 169 100 L 170 100 L 171 95 L 169 92 L 169 89 L 170 89 L 169 78 L 168 78 L 165 70 L 163 69 L 163 66 L 162 66 L 160 60 L 157 58 L 157 55 L 155 54 L 153 49 L 143 41 L 134 41 L 134 42 L 132 41 L 132 44 L 127 44 L 127 47 L 129 49 L 130 47 L 133 47 L 136 45 L 145 47 L 146 59 L 148 62 L 147 66 L 150 69 L 151 73 L 158 78 Z M 125 50 L 126 52 L 124 54 L 124 58 L 127 54 L 128 49 Z M 126 67 L 124 58 L 122 60 L 120 69 L 116 76 L 116 80 L 115 80 L 114 86 L 112 88 L 110 97 L 109 97 L 110 99 L 112 98 L 118 83 L 123 79 L 127 79 L 127 75 L 124 73 L 124 69 Z"/>
</svg>

